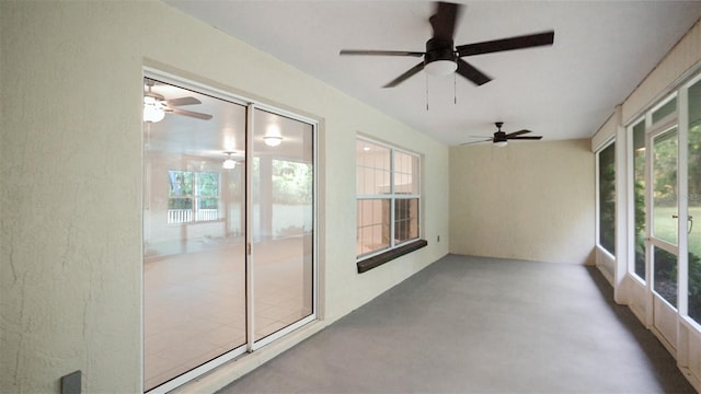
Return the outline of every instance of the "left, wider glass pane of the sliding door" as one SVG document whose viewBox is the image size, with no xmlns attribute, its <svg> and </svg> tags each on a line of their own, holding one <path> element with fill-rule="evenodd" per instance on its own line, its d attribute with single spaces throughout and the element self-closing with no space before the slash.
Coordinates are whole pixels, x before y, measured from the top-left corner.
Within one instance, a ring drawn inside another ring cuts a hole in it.
<svg viewBox="0 0 701 394">
<path fill-rule="evenodd" d="M 143 123 L 148 391 L 245 344 L 246 109 L 151 79 L 145 86 L 154 106 Z M 233 165 L 222 166 L 225 152 Z"/>
</svg>

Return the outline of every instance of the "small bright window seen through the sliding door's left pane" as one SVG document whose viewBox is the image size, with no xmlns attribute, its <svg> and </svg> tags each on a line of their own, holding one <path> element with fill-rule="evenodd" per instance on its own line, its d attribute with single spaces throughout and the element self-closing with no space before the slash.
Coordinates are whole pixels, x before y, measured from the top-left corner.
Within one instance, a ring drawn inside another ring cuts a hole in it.
<svg viewBox="0 0 701 394">
<path fill-rule="evenodd" d="M 169 170 L 168 223 L 219 219 L 219 173 Z"/>
</svg>

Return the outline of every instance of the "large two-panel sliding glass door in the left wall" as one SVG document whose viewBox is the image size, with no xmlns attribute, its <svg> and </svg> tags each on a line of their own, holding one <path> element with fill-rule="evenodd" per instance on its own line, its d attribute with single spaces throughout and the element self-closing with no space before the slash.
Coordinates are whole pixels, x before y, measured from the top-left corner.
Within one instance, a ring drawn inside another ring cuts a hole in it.
<svg viewBox="0 0 701 394">
<path fill-rule="evenodd" d="M 143 81 L 143 385 L 160 393 L 314 318 L 315 126 Z"/>
</svg>

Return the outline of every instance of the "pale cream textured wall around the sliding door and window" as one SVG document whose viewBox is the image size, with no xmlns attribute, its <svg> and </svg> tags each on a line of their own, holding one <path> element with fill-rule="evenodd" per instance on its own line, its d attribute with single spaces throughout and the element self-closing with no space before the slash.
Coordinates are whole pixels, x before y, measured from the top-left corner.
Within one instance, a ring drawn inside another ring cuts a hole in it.
<svg viewBox="0 0 701 394">
<path fill-rule="evenodd" d="M 322 324 L 448 252 L 448 148 L 425 135 L 161 2 L 2 1 L 0 19 L 3 390 L 79 369 L 84 392 L 141 390 L 145 66 L 319 119 Z M 429 240 L 363 275 L 358 132 L 422 154 Z"/>
</svg>

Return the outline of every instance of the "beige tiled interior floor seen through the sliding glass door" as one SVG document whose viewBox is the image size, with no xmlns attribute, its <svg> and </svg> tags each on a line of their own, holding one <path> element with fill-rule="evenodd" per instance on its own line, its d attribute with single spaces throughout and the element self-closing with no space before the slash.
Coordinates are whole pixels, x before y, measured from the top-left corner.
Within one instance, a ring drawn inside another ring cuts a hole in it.
<svg viewBox="0 0 701 394">
<path fill-rule="evenodd" d="M 146 390 L 245 344 L 242 240 L 196 250 L 145 262 Z M 304 252 L 302 237 L 254 245 L 256 339 L 311 313 Z"/>
</svg>

